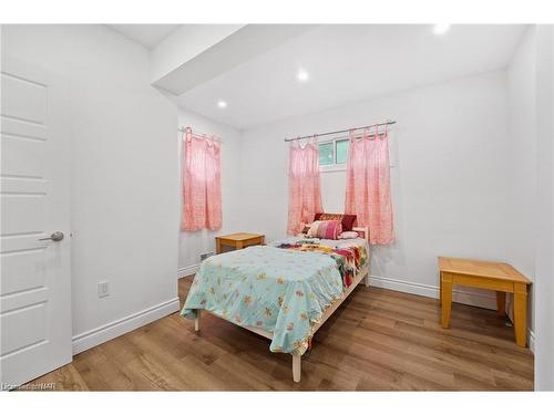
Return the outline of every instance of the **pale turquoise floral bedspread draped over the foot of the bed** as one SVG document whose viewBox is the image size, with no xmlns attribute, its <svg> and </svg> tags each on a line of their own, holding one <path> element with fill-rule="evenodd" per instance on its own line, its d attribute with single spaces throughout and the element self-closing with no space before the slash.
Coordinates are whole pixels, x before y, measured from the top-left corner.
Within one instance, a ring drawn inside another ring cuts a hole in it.
<svg viewBox="0 0 554 415">
<path fill-rule="evenodd" d="M 181 314 L 194 318 L 196 310 L 208 310 L 235 324 L 271 332 L 271 352 L 304 354 L 314 324 L 345 286 L 332 256 L 255 246 L 206 259 Z"/>
</svg>

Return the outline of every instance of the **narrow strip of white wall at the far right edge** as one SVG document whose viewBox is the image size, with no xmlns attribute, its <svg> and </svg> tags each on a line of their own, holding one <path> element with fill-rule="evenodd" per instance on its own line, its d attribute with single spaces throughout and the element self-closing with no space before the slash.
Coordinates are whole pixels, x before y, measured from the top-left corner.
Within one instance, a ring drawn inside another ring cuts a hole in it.
<svg viewBox="0 0 554 415">
<path fill-rule="evenodd" d="M 535 388 L 554 391 L 554 29 L 537 27 Z"/>
</svg>

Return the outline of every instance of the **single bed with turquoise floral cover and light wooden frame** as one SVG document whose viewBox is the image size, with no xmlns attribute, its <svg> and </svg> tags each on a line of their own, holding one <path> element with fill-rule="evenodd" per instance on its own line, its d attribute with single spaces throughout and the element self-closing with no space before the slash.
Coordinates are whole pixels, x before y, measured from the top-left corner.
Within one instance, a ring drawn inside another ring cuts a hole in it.
<svg viewBox="0 0 554 415">
<path fill-rule="evenodd" d="M 368 229 L 360 237 L 327 240 L 289 237 L 204 260 L 182 315 L 209 312 L 271 341 L 269 350 L 293 355 L 300 382 L 302 354 L 311 338 L 365 280 L 369 284 Z"/>
</svg>

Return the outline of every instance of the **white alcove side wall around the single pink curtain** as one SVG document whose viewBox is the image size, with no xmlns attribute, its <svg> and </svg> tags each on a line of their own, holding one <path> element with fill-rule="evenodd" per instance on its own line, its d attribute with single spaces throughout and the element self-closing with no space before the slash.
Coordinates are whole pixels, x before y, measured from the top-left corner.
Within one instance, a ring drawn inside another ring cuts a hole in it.
<svg viewBox="0 0 554 415">
<path fill-rule="evenodd" d="M 240 215 L 242 206 L 238 183 L 238 173 L 240 167 L 239 132 L 230 126 L 217 123 L 213 120 L 206 118 L 184 108 L 178 110 L 178 126 L 189 126 L 193 128 L 193 131 L 198 131 L 206 134 L 215 134 L 219 136 L 223 142 L 222 229 L 216 231 L 203 229 L 193 232 L 179 232 L 178 274 L 189 276 L 191 273 L 194 273 L 196 271 L 196 267 L 201 262 L 201 253 L 208 251 L 215 252 L 216 235 L 232 234 L 239 230 L 238 217 Z M 182 144 L 181 133 L 177 135 L 177 142 Z M 181 198 L 181 185 L 178 195 Z M 179 206 L 182 206 L 181 203 Z M 177 224 L 177 228 L 178 227 L 179 225 Z"/>
</svg>

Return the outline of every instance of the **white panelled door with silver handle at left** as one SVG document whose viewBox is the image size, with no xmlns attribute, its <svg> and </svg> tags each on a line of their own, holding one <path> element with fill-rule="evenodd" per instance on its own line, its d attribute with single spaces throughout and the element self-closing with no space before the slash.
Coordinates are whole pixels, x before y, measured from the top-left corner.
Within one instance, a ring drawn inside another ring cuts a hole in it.
<svg viewBox="0 0 554 415">
<path fill-rule="evenodd" d="M 1 388 L 71 362 L 66 86 L 1 65 Z M 48 239 L 54 232 L 54 240 Z"/>
</svg>

